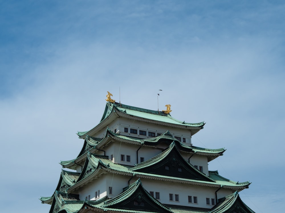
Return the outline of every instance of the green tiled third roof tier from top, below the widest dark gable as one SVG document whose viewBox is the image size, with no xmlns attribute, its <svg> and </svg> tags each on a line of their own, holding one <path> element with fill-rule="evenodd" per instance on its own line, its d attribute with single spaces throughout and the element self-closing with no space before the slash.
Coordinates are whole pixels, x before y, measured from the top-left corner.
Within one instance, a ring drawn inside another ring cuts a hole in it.
<svg viewBox="0 0 285 213">
<path fill-rule="evenodd" d="M 235 189 L 238 191 L 241 191 L 248 187 L 250 185 L 249 181 L 238 183 L 235 181 L 231 181 L 229 179 L 223 178 L 222 176 L 219 176 L 217 171 L 209 171 L 209 177 L 207 177 L 205 174 L 201 173 L 199 170 L 194 168 L 191 164 L 188 162 L 189 168 L 191 170 L 195 170 L 195 172 L 201 176 L 203 176 L 202 179 L 191 179 L 191 178 L 183 178 L 183 177 L 175 177 L 175 176 L 168 176 L 168 175 L 162 175 L 162 174 L 154 174 L 149 172 L 143 172 L 141 169 L 146 167 L 151 167 L 154 163 L 157 163 L 161 160 L 161 158 L 166 158 L 167 154 L 170 153 L 170 151 L 174 148 L 174 143 L 170 145 L 170 148 L 164 151 L 163 153 L 159 154 L 157 157 L 152 158 L 148 161 L 142 162 L 141 164 L 137 164 L 136 166 L 126 166 L 122 164 L 116 164 L 113 163 L 111 160 L 107 159 L 103 156 L 98 156 L 92 153 L 87 154 L 87 160 L 85 162 L 82 174 L 78 178 L 78 181 L 74 183 L 74 185 L 68 187 L 68 191 L 72 190 L 74 187 L 80 186 L 80 183 L 82 181 L 85 181 L 86 178 L 91 181 L 93 178 L 95 178 L 94 175 L 96 175 L 99 170 L 107 170 L 109 172 L 117 171 L 121 172 L 122 174 L 127 174 L 129 176 L 136 175 L 138 177 L 152 177 L 156 179 L 168 179 L 171 181 L 178 181 L 178 182 L 187 182 L 195 185 L 208 185 L 213 187 L 220 187 L 223 185 L 225 188 Z M 100 166 L 99 166 L 100 165 Z M 139 171 L 138 171 L 139 170 Z M 87 171 L 87 172 L 86 172 Z M 94 176 L 94 177 L 93 177 Z M 79 185 L 78 185 L 79 184 Z"/>
</svg>

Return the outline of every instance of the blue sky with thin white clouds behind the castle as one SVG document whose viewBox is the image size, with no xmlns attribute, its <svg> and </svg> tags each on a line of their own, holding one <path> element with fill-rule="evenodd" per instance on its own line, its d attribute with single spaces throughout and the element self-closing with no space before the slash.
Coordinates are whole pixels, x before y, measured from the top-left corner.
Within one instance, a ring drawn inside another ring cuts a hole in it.
<svg viewBox="0 0 285 213">
<path fill-rule="evenodd" d="M 205 121 L 192 143 L 227 151 L 210 170 L 255 212 L 283 212 L 282 1 L 0 1 L 4 212 L 48 212 L 60 160 L 93 128 L 107 91 Z M 119 93 L 121 90 L 121 94 Z M 16 204 L 17 203 L 17 204 Z M 16 204 L 16 205 L 15 205 Z"/>
</svg>

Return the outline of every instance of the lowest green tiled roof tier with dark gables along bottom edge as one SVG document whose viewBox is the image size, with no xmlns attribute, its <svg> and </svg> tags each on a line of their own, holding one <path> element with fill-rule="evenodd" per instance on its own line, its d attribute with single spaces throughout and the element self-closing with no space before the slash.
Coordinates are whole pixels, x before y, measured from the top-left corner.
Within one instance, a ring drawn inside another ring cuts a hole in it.
<svg viewBox="0 0 285 213">
<path fill-rule="evenodd" d="M 66 194 L 55 191 L 52 197 L 42 197 L 41 199 L 52 198 L 52 206 L 50 212 L 82 212 L 83 209 L 115 211 L 115 212 L 132 212 L 132 213 L 158 213 L 158 212 L 173 212 L 173 213 L 231 213 L 245 212 L 255 213 L 251 210 L 239 197 L 237 192 L 223 197 L 218 200 L 218 203 L 211 209 L 197 208 L 190 206 L 179 206 L 162 204 L 154 199 L 144 188 L 140 179 L 126 187 L 125 190 L 116 197 L 108 199 L 107 196 L 96 201 L 79 200 L 79 195 Z M 133 201 L 144 201 L 148 205 L 146 207 L 135 206 Z M 150 205 L 149 205 L 150 204 Z M 137 209 L 136 209 L 137 208 Z"/>
</svg>

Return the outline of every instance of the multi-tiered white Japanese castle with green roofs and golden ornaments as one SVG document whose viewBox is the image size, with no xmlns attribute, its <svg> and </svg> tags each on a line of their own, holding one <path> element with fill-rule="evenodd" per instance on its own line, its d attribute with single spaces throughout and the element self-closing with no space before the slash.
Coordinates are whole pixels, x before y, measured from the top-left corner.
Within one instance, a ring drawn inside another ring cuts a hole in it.
<svg viewBox="0 0 285 213">
<path fill-rule="evenodd" d="M 75 212 L 253 212 L 238 192 L 250 183 L 209 171 L 208 162 L 225 149 L 193 146 L 204 122 L 186 123 L 163 111 L 116 103 L 108 92 L 94 128 L 78 132 L 83 147 L 61 161 L 50 213 Z"/>
</svg>

